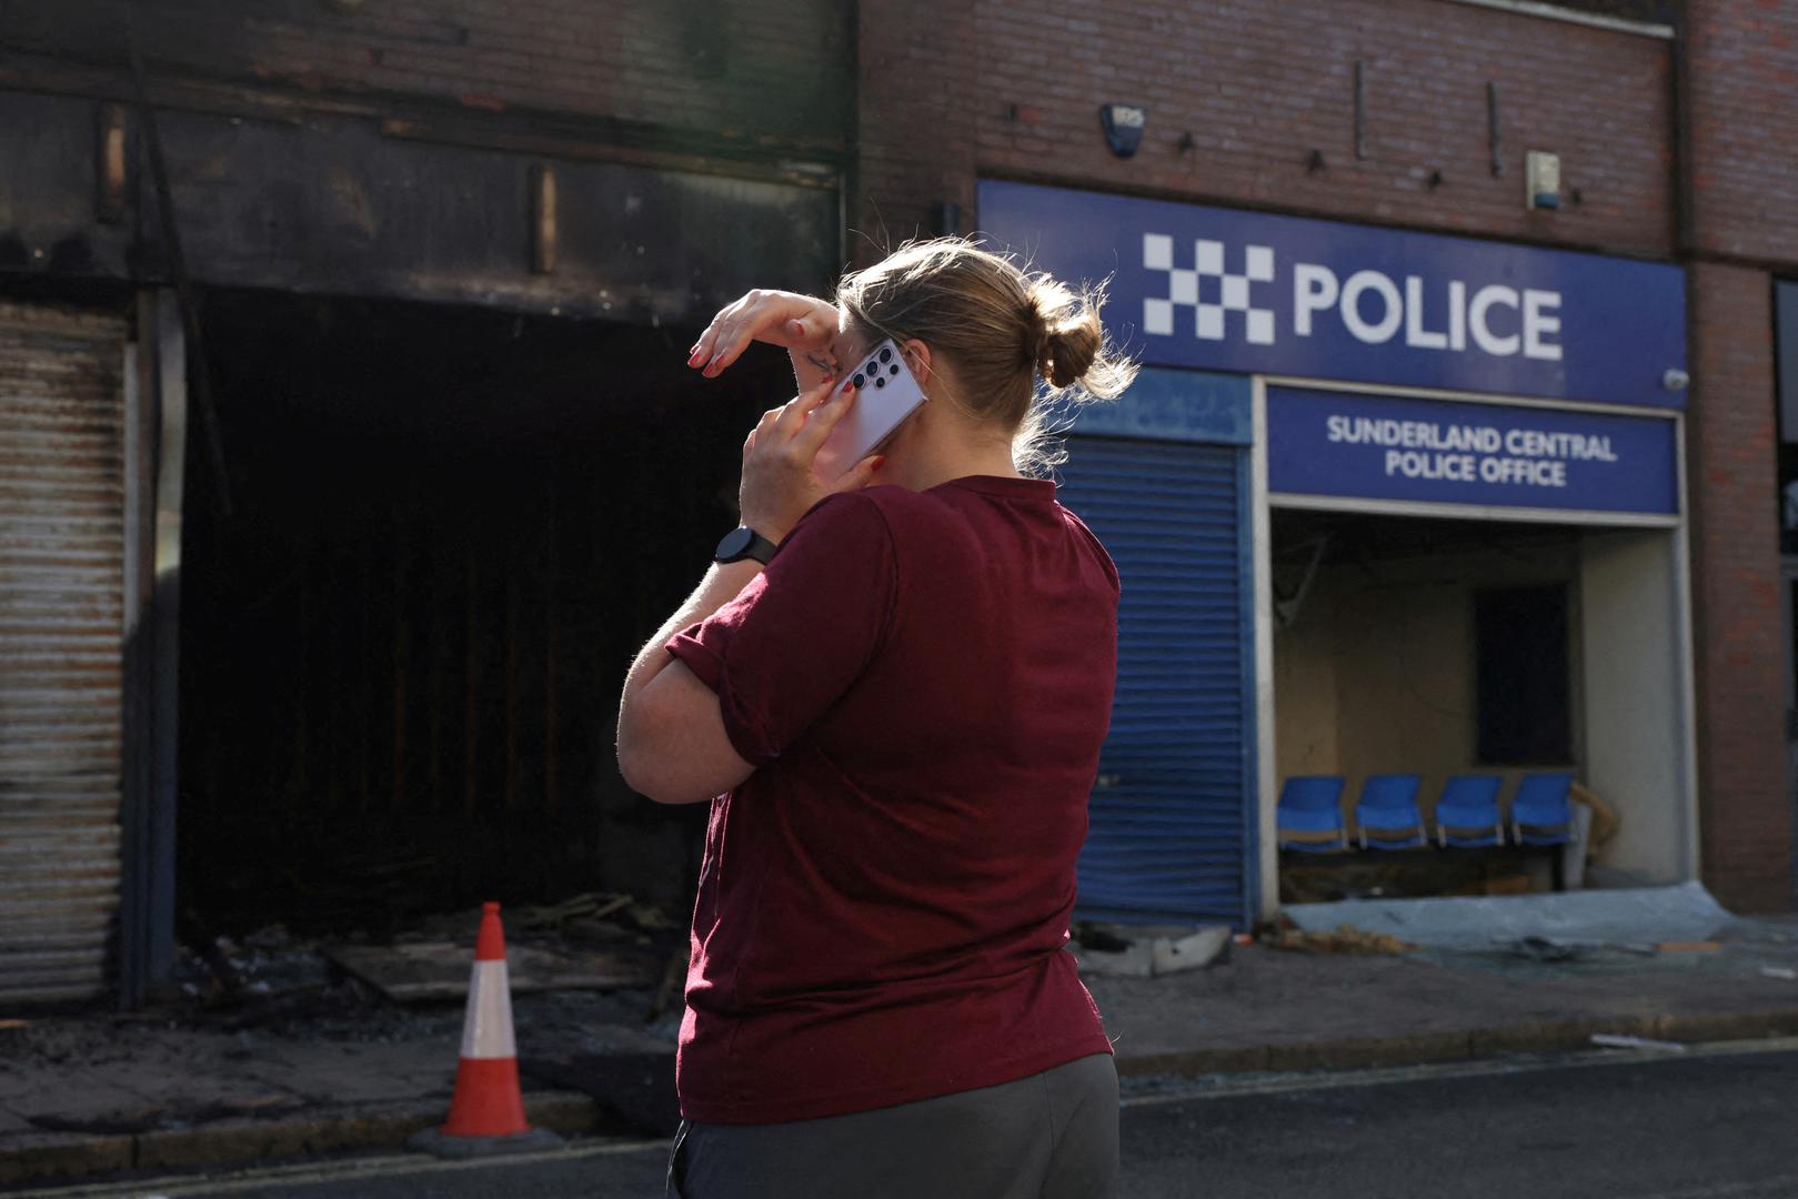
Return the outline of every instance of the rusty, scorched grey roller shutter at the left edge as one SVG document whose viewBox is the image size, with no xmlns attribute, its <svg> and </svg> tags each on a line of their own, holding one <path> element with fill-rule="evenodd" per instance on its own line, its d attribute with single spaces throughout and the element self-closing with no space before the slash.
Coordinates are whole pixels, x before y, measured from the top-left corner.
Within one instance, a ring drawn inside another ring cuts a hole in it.
<svg viewBox="0 0 1798 1199">
<path fill-rule="evenodd" d="M 0 304 L 0 1005 L 106 985 L 124 322 Z"/>
</svg>

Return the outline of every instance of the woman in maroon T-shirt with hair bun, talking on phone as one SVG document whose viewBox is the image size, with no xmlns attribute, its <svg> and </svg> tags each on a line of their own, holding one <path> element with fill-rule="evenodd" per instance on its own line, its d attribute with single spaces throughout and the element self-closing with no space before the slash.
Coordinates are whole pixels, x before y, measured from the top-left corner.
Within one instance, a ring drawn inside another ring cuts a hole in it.
<svg viewBox="0 0 1798 1199">
<path fill-rule="evenodd" d="M 1118 579 L 1028 475 L 1052 464 L 1045 403 L 1131 379 L 1097 306 L 942 239 L 834 306 L 752 291 L 692 349 L 712 377 L 782 345 L 800 392 L 743 448 L 753 534 L 638 656 L 619 717 L 633 787 L 712 800 L 669 1194 L 1111 1194 L 1117 1073 L 1064 944 Z M 831 379 L 883 338 L 928 403 L 818 478 L 854 404 Z"/>
</svg>

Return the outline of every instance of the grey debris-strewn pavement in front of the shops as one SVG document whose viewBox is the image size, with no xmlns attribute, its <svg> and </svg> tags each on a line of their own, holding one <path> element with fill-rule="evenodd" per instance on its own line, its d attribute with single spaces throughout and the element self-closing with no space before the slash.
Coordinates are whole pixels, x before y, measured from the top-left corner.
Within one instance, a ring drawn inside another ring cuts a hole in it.
<svg viewBox="0 0 1798 1199">
<path fill-rule="evenodd" d="M 1798 926 L 1740 922 L 1713 951 L 1553 964 L 1496 947 L 1327 956 L 1253 946 L 1206 971 L 1090 987 L 1129 1077 L 1467 1061 L 1577 1050 L 1595 1032 L 1766 1037 L 1798 1034 Z M 527 1073 L 536 1122 L 653 1132 L 665 1120 L 654 1097 L 671 1086 L 672 1046 L 665 1025 L 642 1026 L 645 999 L 520 996 L 520 1053 L 527 1071 L 539 1062 L 550 1075 Z M 88 1016 L 4 1030 L 0 1185 L 399 1145 L 448 1107 L 460 1016 L 372 1008 L 239 1030 Z"/>
</svg>

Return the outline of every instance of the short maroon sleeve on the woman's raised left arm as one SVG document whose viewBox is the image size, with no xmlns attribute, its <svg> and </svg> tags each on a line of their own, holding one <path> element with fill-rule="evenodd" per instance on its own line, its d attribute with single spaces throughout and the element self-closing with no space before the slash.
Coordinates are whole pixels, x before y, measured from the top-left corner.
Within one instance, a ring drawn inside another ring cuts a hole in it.
<svg viewBox="0 0 1798 1199">
<path fill-rule="evenodd" d="M 879 505 L 859 493 L 829 496 L 737 599 L 676 633 L 667 651 L 717 692 L 743 760 L 766 766 L 874 662 L 895 591 Z"/>
</svg>

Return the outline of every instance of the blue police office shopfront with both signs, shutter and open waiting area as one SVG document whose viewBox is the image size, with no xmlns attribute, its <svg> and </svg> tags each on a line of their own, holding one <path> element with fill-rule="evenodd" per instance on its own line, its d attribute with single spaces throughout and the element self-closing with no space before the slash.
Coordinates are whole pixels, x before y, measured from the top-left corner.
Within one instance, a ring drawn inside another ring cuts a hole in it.
<svg viewBox="0 0 1798 1199">
<path fill-rule="evenodd" d="M 1246 926 L 1383 861 L 1381 893 L 1550 886 L 1438 848 L 1462 775 L 1501 822 L 1530 777 L 1595 796 L 1566 884 L 1697 875 L 1678 268 L 1010 182 L 980 228 L 1108 280 L 1142 363 L 1061 467 L 1124 579 L 1082 913 Z M 1307 890 L 1282 787 L 1340 778 L 1354 847 L 1386 775 L 1422 845 Z"/>
</svg>

